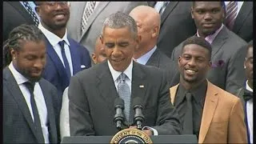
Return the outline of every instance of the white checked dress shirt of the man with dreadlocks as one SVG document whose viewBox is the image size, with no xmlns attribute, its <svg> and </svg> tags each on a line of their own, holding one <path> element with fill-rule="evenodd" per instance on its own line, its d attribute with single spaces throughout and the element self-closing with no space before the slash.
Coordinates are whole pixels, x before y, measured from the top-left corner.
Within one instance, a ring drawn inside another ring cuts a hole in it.
<svg viewBox="0 0 256 144">
<path fill-rule="evenodd" d="M 30 110 L 31 117 L 34 121 L 34 115 L 32 111 L 32 106 L 30 102 L 30 90 L 26 88 L 24 85 L 24 82 L 29 81 L 27 78 L 25 78 L 22 74 L 20 74 L 13 66 L 13 62 L 10 62 L 10 65 L 8 66 L 11 73 L 14 75 L 14 78 L 18 84 L 19 89 L 22 91 L 22 94 L 26 100 L 26 105 L 28 106 Z M 42 127 L 42 134 L 45 139 L 46 143 L 49 143 L 49 131 L 48 131 L 48 120 L 47 120 L 47 107 L 46 107 L 46 101 L 42 94 L 42 89 L 38 82 L 35 82 L 34 85 L 34 101 L 38 108 L 38 114 L 41 122 Z"/>
</svg>

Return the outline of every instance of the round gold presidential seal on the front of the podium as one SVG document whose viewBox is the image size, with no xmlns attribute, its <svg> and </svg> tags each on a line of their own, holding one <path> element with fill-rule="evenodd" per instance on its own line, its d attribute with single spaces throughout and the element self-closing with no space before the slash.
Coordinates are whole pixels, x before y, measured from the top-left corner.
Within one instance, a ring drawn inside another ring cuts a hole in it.
<svg viewBox="0 0 256 144">
<path fill-rule="evenodd" d="M 125 129 L 119 131 L 110 143 L 153 143 L 150 137 L 142 130 Z"/>
</svg>

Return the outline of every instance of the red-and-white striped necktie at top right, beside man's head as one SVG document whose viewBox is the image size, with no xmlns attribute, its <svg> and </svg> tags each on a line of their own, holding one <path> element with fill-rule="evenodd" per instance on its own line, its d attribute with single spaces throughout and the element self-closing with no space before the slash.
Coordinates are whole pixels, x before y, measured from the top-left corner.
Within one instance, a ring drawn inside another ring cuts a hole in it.
<svg viewBox="0 0 256 144">
<path fill-rule="evenodd" d="M 229 2 L 226 5 L 226 26 L 232 30 L 234 26 L 234 20 L 238 13 L 238 2 Z"/>
</svg>

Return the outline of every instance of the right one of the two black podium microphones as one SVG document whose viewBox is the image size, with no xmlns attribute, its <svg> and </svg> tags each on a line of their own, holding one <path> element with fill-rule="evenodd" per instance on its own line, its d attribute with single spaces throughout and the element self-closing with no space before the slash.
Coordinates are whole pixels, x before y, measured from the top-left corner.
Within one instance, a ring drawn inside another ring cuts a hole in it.
<svg viewBox="0 0 256 144">
<path fill-rule="evenodd" d="M 142 124 L 145 120 L 144 115 L 142 114 L 143 107 L 142 106 L 142 98 L 136 97 L 134 98 L 134 123 L 137 125 L 138 130 L 142 130 Z"/>
</svg>

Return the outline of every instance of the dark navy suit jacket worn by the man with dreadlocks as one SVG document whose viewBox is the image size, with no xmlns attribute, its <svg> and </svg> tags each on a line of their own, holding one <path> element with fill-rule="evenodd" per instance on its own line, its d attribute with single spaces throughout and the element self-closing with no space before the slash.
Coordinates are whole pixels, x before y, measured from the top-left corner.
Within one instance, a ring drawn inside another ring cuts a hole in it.
<svg viewBox="0 0 256 144">
<path fill-rule="evenodd" d="M 41 78 L 39 85 L 46 101 L 49 122 L 50 143 L 60 142 L 58 95 L 56 88 Z M 34 122 L 26 100 L 19 89 L 13 74 L 6 67 L 3 70 L 3 142 L 4 143 L 38 143 L 42 139 L 34 133 Z"/>
</svg>

